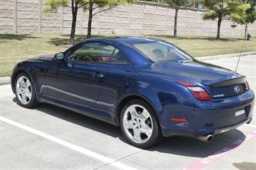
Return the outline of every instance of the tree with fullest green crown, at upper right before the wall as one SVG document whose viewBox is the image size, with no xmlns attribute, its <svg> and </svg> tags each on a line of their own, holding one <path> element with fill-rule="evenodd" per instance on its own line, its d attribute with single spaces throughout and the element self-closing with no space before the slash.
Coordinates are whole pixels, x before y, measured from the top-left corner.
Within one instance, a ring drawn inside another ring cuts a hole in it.
<svg viewBox="0 0 256 170">
<path fill-rule="evenodd" d="M 239 0 L 199 0 L 199 2 L 212 9 L 204 13 L 204 20 L 218 19 L 216 39 L 220 39 L 220 27 L 223 20 L 232 20 L 239 24 L 246 23 L 246 10 L 250 8 L 250 4 Z"/>
</svg>

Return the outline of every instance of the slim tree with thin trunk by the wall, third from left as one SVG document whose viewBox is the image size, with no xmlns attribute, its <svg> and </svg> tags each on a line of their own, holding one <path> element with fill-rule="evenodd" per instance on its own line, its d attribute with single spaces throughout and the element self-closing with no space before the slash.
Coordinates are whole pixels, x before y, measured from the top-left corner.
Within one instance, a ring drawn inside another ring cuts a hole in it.
<svg viewBox="0 0 256 170">
<path fill-rule="evenodd" d="M 163 0 L 163 3 L 169 4 L 172 8 L 175 9 L 175 16 L 174 16 L 174 31 L 173 37 L 177 38 L 177 20 L 178 20 L 178 11 L 180 8 L 189 8 L 193 6 L 195 1 L 189 0 Z"/>
</svg>

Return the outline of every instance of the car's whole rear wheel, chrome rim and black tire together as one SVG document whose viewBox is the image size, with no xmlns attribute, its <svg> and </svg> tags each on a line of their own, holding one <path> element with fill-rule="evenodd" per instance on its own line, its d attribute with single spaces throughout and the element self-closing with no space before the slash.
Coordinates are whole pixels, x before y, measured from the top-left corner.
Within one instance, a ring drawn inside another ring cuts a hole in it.
<svg viewBox="0 0 256 170">
<path fill-rule="evenodd" d="M 148 148 L 163 138 L 154 110 L 141 100 L 125 104 L 120 126 L 125 139 L 138 148 Z"/>
</svg>

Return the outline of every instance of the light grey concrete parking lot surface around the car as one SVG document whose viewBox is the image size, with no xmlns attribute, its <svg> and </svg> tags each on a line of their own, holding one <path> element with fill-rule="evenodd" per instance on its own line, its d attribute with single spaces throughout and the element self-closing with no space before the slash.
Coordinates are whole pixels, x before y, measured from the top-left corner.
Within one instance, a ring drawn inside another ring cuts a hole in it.
<svg viewBox="0 0 256 170">
<path fill-rule="evenodd" d="M 205 62 L 234 70 L 237 59 Z M 256 92 L 256 55 L 237 72 Z M 0 90 L 0 169 L 256 169 L 255 120 L 211 143 L 172 137 L 141 150 L 118 127 L 48 104 L 22 108 L 10 85 Z"/>
</svg>

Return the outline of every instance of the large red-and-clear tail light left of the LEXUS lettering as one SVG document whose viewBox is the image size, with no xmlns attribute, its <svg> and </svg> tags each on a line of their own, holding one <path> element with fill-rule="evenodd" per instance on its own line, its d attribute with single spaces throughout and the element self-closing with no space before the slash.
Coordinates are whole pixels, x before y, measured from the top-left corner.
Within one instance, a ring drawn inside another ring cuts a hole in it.
<svg viewBox="0 0 256 170">
<path fill-rule="evenodd" d="M 177 83 L 187 87 L 198 101 L 212 101 L 212 97 L 202 87 L 188 81 L 178 81 Z"/>
</svg>

